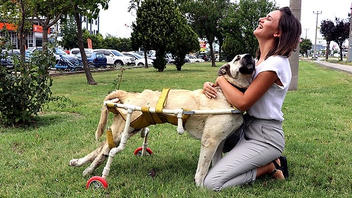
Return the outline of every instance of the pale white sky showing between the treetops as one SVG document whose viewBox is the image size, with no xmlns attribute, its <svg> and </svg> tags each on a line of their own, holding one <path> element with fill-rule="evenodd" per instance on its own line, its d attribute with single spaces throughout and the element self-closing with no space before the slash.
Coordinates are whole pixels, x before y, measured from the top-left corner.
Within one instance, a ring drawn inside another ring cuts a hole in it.
<svg viewBox="0 0 352 198">
<path fill-rule="evenodd" d="M 275 1 L 275 0 L 272 0 Z M 290 0 L 276 0 L 280 7 L 289 6 Z M 291 0 L 295 1 L 295 0 Z M 130 0 L 111 0 L 109 8 L 106 11 L 100 11 L 100 32 L 105 37 L 107 34 L 115 37 L 130 37 L 131 25 L 135 20 L 135 14 L 128 13 Z M 348 18 L 348 13 L 351 12 L 352 0 L 301 0 L 301 37 L 310 39 L 314 44 L 315 30 L 318 14 L 318 26 L 322 20 L 335 20 L 335 17 L 340 19 Z M 315 13 L 313 13 L 315 12 Z M 317 31 L 317 44 L 324 42 L 322 36 Z"/>
</svg>

